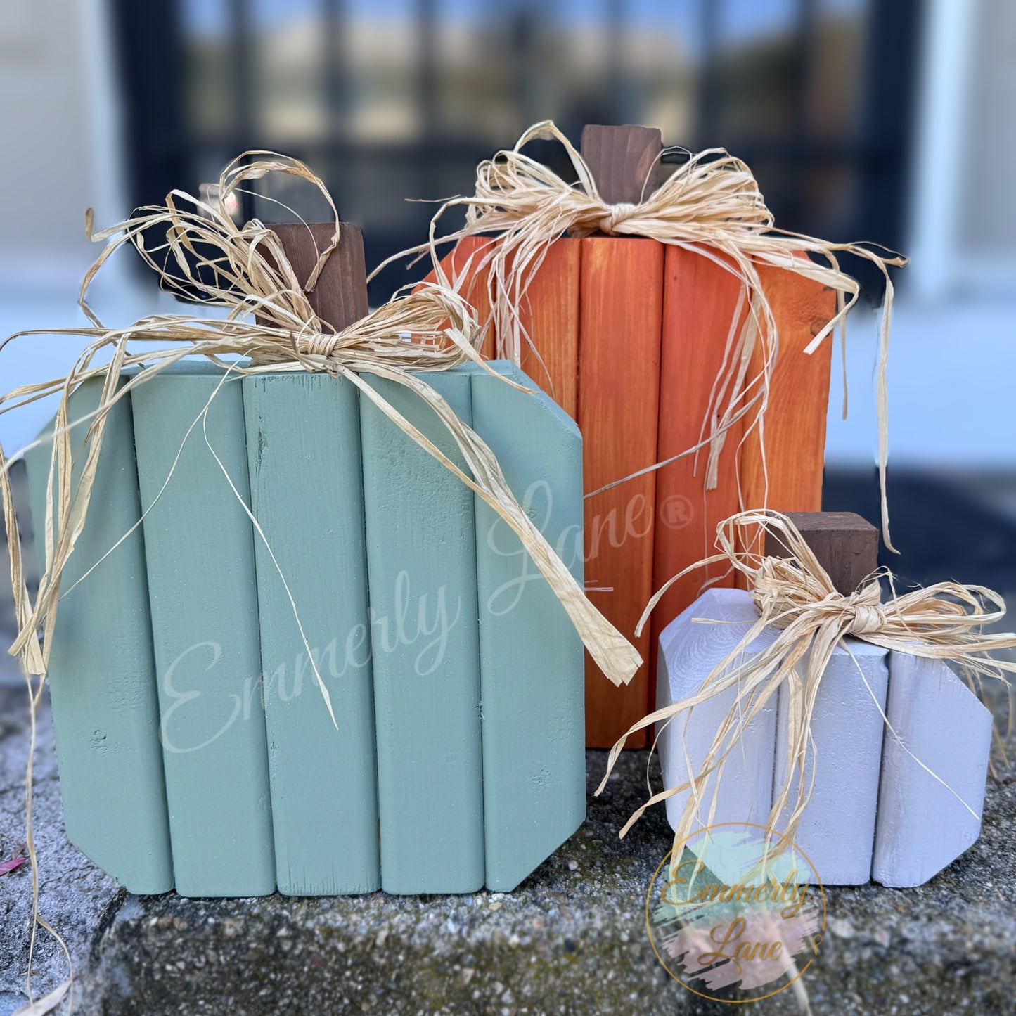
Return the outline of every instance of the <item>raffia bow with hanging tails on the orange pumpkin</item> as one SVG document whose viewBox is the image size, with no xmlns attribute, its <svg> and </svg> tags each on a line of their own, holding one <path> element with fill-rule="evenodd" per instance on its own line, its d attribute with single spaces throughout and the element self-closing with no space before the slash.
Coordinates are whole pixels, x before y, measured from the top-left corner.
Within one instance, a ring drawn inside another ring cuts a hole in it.
<svg viewBox="0 0 1016 1016">
<path fill-rule="evenodd" d="M 523 154 L 529 141 L 550 139 L 565 149 L 577 177 L 576 184 L 566 183 L 553 170 Z M 586 237 L 597 231 L 609 236 L 648 237 L 663 244 L 683 247 L 708 258 L 724 271 L 732 272 L 748 295 L 749 313 L 738 329 L 737 351 L 724 366 L 724 376 L 714 388 L 703 420 L 705 438 L 661 462 L 632 473 L 624 483 L 678 458 L 708 450 L 705 487 L 716 486 L 719 453 L 724 436 L 744 421 L 751 432 L 761 425 L 770 379 L 778 351 L 778 329 L 772 309 L 759 277 L 758 266 L 773 265 L 810 278 L 835 290 L 836 313 L 806 348 L 814 353 L 838 327 L 845 340 L 846 315 L 856 303 L 861 287 L 839 267 L 837 255 L 852 254 L 872 262 L 886 280 L 882 308 L 878 359 L 879 471 L 882 483 L 882 530 L 890 549 L 889 513 L 885 497 L 888 402 L 886 394 L 886 359 L 889 348 L 889 322 L 892 314 L 893 288 L 889 266 L 906 264 L 899 254 L 876 249 L 874 245 L 837 244 L 775 228 L 758 183 L 749 167 L 722 148 L 698 153 L 674 148 L 688 155 L 671 176 L 639 204 L 609 204 L 599 195 L 596 183 L 579 151 L 550 120 L 534 124 L 516 142 L 514 148 L 499 151 L 477 168 L 474 193 L 446 201 L 431 221 L 427 244 L 403 251 L 379 265 L 412 255 L 430 254 L 436 277 L 446 284 L 461 284 L 462 277 L 449 280 L 440 264 L 438 245 L 455 243 L 465 237 L 487 235 L 497 243 L 484 248 L 474 272 L 488 269 L 487 285 L 491 320 L 497 333 L 497 355 L 520 362 L 524 345 L 532 347 L 519 314 L 519 307 L 551 246 L 564 232 Z M 437 238 L 437 226 L 448 210 L 463 207 L 465 225 L 447 236 Z M 812 260 L 812 256 L 822 262 Z M 847 299 L 844 300 L 844 295 Z M 740 309 L 734 316 L 737 327 Z M 487 322 L 481 322 L 482 325 Z M 746 376 L 746 369 L 756 342 L 766 343 L 763 366 L 756 377 Z M 843 411 L 846 411 L 844 385 Z M 764 449 L 763 449 L 764 455 Z M 611 486 L 616 486 L 612 484 Z M 602 488 L 607 490 L 608 488 Z M 593 493 L 599 493 L 593 492 Z"/>
</svg>

